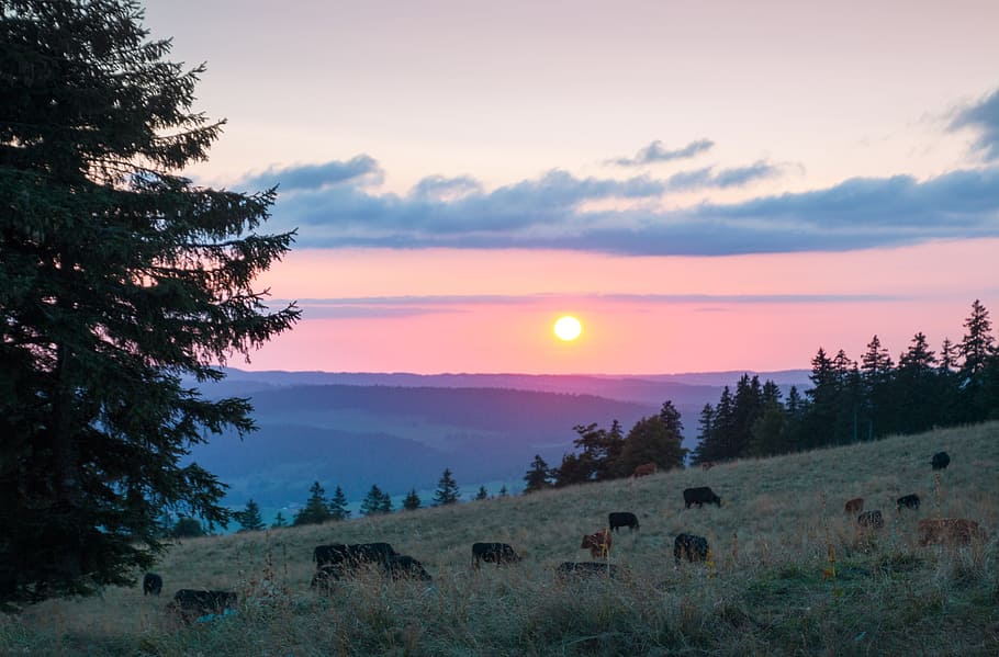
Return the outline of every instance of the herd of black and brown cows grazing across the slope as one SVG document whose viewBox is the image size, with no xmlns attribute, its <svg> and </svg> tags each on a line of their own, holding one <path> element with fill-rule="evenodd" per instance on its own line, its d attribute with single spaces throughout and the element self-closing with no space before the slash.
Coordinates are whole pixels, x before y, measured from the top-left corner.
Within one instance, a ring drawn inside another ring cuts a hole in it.
<svg viewBox="0 0 999 657">
<path fill-rule="evenodd" d="M 933 455 L 931 464 L 934 471 L 945 469 L 951 458 L 946 452 Z M 714 465 L 714 464 L 712 464 Z M 707 469 L 707 468 L 705 468 Z M 641 477 L 655 473 L 654 464 L 646 464 L 636 468 L 633 476 Z M 722 506 L 721 498 L 707 486 L 686 488 L 683 491 L 684 507 L 689 509 L 696 505 Z M 916 494 L 905 495 L 896 500 L 897 513 L 903 511 L 918 511 L 920 499 Z M 856 518 L 858 532 L 876 532 L 885 525 L 885 517 L 880 509 L 864 510 L 864 498 L 850 499 L 844 505 L 844 513 Z M 593 562 L 562 562 L 555 568 L 559 579 L 602 576 L 616 578 L 620 568 L 609 563 L 613 533 L 624 528 L 629 532 L 640 529 L 638 517 L 630 511 L 614 511 L 607 517 L 607 528 L 599 529 L 592 534 L 584 534 L 580 544 L 581 550 L 588 550 Z M 973 521 L 961 518 L 927 518 L 918 524 L 919 544 L 966 544 L 973 540 L 987 540 L 987 534 L 981 526 Z M 673 558 L 678 566 L 681 562 L 707 562 L 710 559 L 708 540 L 687 532 L 676 535 L 673 542 Z M 598 559 L 598 560 L 597 560 Z M 433 577 L 416 558 L 399 554 L 389 543 L 332 543 L 317 545 L 313 550 L 312 560 L 315 563 L 315 573 L 312 578 L 313 588 L 329 588 L 341 579 L 352 578 L 362 571 L 374 571 L 391 580 L 433 581 Z M 498 566 L 514 565 L 521 557 L 506 543 L 480 542 L 472 544 L 472 567 L 481 568 L 483 563 Z M 158 596 L 162 590 L 162 578 L 155 573 L 147 573 L 143 578 L 143 593 Z M 213 614 L 231 613 L 236 604 L 236 593 L 231 591 L 181 589 L 177 591 L 173 601 L 168 605 L 181 619 L 191 622 L 193 619 Z"/>
</svg>

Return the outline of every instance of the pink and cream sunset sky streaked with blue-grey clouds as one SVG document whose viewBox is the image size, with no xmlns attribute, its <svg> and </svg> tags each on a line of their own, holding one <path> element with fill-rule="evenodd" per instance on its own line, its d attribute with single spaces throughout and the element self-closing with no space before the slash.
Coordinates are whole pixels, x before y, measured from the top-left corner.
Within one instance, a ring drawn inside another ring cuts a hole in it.
<svg viewBox="0 0 999 657">
<path fill-rule="evenodd" d="M 999 311 L 992 0 L 144 7 L 227 121 L 184 174 L 296 230 L 233 366 L 808 369 Z"/>
</svg>

